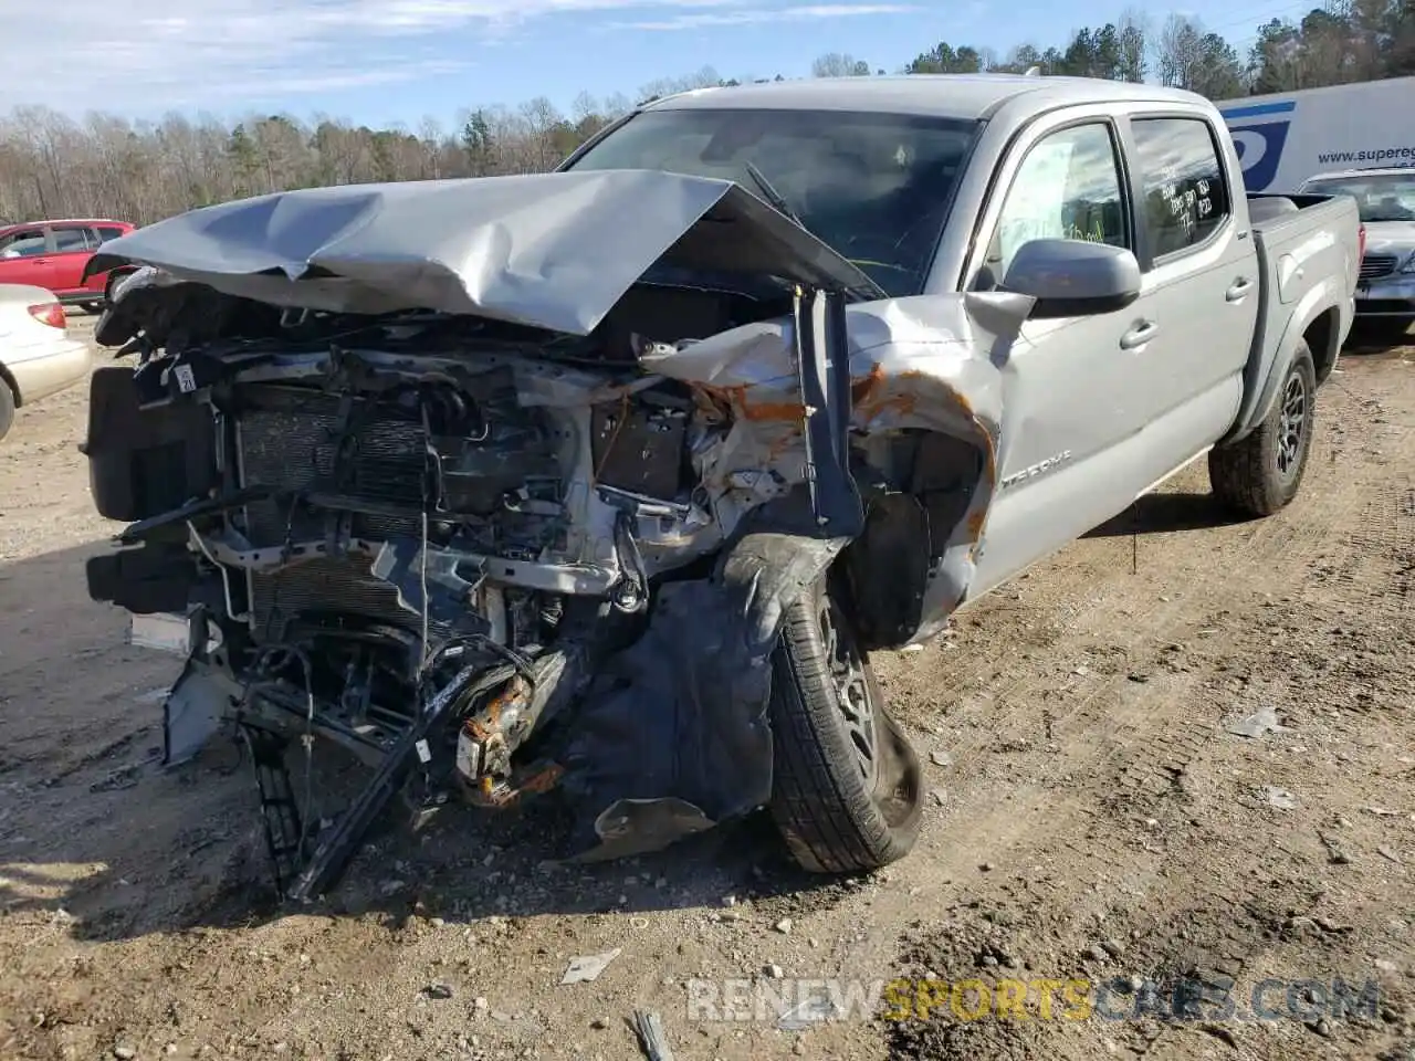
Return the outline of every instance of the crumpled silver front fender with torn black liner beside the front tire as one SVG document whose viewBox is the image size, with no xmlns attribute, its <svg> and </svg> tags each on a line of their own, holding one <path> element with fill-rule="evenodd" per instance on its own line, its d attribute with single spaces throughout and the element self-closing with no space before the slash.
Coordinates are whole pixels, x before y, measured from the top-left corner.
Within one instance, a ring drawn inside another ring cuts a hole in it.
<svg viewBox="0 0 1415 1061">
<path fill-rule="evenodd" d="M 846 314 L 852 433 L 866 461 L 906 429 L 959 439 L 982 457 L 968 509 L 928 557 L 924 584 L 889 587 L 918 593 L 914 639 L 938 631 L 972 577 L 996 485 L 999 366 L 1030 310 L 1023 296 L 952 294 Z M 657 850 L 771 796 L 768 655 L 784 610 L 848 545 L 815 523 L 799 489 L 805 410 L 794 356 L 791 320 L 678 347 L 649 344 L 640 354 L 654 375 L 732 406 L 726 440 L 696 457 L 705 485 L 723 491 L 719 518 L 739 495 L 746 533 L 729 545 L 715 579 L 662 587 L 644 637 L 582 702 L 565 781 L 586 808 L 582 859 Z M 763 475 L 782 495 L 749 508 L 763 497 Z"/>
</svg>

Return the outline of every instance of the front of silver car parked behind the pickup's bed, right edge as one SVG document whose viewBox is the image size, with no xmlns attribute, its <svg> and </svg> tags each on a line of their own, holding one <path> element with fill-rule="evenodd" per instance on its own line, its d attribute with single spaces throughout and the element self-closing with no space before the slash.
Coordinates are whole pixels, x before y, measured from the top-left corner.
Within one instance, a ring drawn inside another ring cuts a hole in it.
<svg viewBox="0 0 1415 1061">
<path fill-rule="evenodd" d="M 1356 199 L 1365 225 L 1357 315 L 1415 321 L 1415 168 L 1323 173 L 1302 192 Z"/>
</svg>

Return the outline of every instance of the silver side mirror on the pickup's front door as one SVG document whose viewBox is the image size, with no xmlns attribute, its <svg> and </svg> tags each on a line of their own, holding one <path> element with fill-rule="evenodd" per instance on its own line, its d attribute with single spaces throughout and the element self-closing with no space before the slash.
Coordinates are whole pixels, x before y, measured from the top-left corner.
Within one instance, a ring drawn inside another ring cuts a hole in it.
<svg viewBox="0 0 1415 1061">
<path fill-rule="evenodd" d="M 1140 265 L 1108 243 L 1033 239 L 1012 256 L 1002 290 L 1036 298 L 1033 317 L 1115 313 L 1140 297 Z"/>
</svg>

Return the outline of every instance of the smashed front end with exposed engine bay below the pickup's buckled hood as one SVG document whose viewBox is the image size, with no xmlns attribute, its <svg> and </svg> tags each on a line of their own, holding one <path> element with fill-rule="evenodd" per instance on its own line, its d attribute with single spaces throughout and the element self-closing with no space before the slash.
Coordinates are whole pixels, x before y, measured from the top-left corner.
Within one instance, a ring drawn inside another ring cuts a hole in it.
<svg viewBox="0 0 1415 1061">
<path fill-rule="evenodd" d="M 659 262 L 576 334 L 218 276 L 163 253 L 163 225 L 95 263 L 147 267 L 98 332 L 139 366 L 93 378 L 93 497 L 129 526 L 89 587 L 187 658 L 168 764 L 222 726 L 245 741 L 287 897 L 331 887 L 409 787 L 560 788 L 586 859 L 764 806 L 784 608 L 829 570 L 869 648 L 965 591 L 988 424 L 938 376 L 852 375 L 899 323 L 848 318 L 843 263 L 808 284 Z M 286 765 L 316 738 L 375 771 L 323 829 Z"/>
</svg>

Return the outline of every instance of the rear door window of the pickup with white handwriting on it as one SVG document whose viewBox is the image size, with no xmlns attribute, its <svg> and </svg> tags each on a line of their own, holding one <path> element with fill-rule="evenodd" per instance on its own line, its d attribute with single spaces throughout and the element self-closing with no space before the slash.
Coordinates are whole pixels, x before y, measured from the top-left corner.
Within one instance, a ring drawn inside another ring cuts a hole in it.
<svg viewBox="0 0 1415 1061">
<path fill-rule="evenodd" d="M 1203 243 L 1232 214 L 1208 123 L 1199 117 L 1140 117 L 1131 122 L 1131 129 L 1155 257 Z"/>
</svg>

